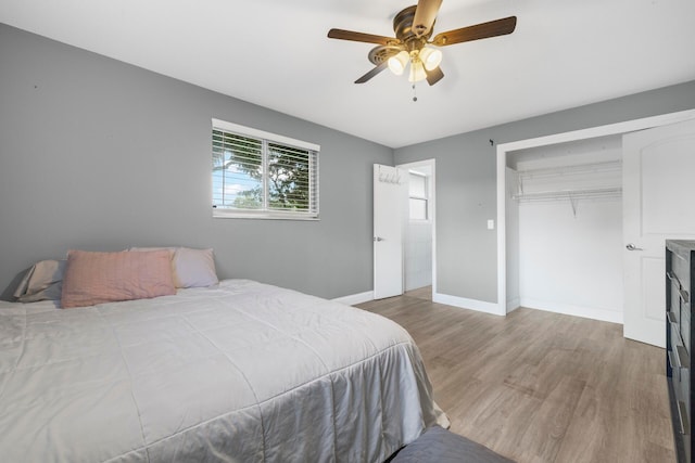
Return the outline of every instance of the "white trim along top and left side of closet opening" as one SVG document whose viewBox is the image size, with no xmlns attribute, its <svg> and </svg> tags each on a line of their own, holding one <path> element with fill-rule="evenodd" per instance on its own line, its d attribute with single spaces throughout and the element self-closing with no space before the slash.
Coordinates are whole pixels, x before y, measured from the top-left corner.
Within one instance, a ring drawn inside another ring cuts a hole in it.
<svg viewBox="0 0 695 463">
<path fill-rule="evenodd" d="M 608 124 L 589 129 L 573 130 L 546 137 L 519 140 L 497 145 L 497 310 L 507 313 L 507 265 L 506 265 L 506 165 L 507 154 L 518 150 L 546 146 L 597 137 L 621 134 L 635 130 L 650 129 L 695 118 L 695 110 L 681 111 L 659 116 L 644 117 L 623 123 Z"/>
</svg>

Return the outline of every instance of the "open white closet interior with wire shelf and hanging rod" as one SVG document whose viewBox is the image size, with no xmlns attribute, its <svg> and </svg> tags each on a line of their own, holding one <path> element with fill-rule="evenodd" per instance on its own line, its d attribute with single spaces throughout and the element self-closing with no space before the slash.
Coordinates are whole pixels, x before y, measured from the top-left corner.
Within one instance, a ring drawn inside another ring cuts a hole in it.
<svg viewBox="0 0 695 463">
<path fill-rule="evenodd" d="M 621 143 L 610 136 L 507 153 L 513 306 L 622 322 Z"/>
</svg>

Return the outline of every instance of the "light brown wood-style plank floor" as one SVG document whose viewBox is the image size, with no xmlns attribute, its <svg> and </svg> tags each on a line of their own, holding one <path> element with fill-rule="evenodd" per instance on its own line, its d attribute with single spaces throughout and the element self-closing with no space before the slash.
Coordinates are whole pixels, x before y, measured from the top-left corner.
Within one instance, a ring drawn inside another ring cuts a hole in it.
<svg viewBox="0 0 695 463">
<path fill-rule="evenodd" d="M 675 461 L 662 349 L 615 323 L 430 299 L 426 288 L 357 307 L 410 333 L 452 432 L 519 463 Z"/>
</svg>

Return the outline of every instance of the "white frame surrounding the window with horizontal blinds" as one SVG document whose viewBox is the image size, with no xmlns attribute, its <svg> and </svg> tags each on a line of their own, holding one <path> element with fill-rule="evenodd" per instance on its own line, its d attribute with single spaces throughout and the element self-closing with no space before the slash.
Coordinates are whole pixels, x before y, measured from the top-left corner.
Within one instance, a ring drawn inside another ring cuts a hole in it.
<svg viewBox="0 0 695 463">
<path fill-rule="evenodd" d="M 320 145 L 316 143 L 311 143 L 311 142 L 280 136 L 277 133 L 266 132 L 264 130 L 258 130 L 251 127 L 241 126 L 233 123 L 228 123 L 226 120 L 213 118 L 211 132 L 215 130 L 224 131 L 224 132 L 239 136 L 239 137 L 257 139 L 257 141 L 260 141 L 263 145 L 262 159 L 263 159 L 264 171 L 267 170 L 266 166 L 268 163 L 268 153 L 269 153 L 267 146 L 269 144 L 275 143 L 275 144 L 286 145 L 288 147 L 307 150 L 309 152 L 309 185 L 311 188 L 315 189 L 315 194 L 309 193 L 309 196 L 314 196 L 316 198 L 315 200 L 316 208 L 315 210 L 311 210 L 311 204 L 309 204 L 309 210 L 307 211 L 269 209 L 267 205 L 268 176 L 264 175 L 262 178 L 263 191 L 264 191 L 262 209 L 220 208 L 220 207 L 217 207 L 213 202 L 213 205 L 212 205 L 213 218 L 269 219 L 269 220 L 320 220 L 319 219 Z M 211 146 L 211 155 L 212 155 L 212 152 L 213 150 Z M 211 170 L 211 195 L 214 195 L 214 183 L 212 182 L 212 175 L 213 175 L 213 171 Z M 312 203 L 311 200 L 309 200 L 309 203 Z"/>
</svg>

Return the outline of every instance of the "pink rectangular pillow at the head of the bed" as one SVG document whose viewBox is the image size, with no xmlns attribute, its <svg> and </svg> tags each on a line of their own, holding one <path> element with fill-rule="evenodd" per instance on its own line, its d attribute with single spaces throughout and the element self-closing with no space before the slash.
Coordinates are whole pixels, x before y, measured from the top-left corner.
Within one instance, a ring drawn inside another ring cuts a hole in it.
<svg viewBox="0 0 695 463">
<path fill-rule="evenodd" d="M 176 294 L 172 253 L 90 253 L 70 250 L 61 306 L 93 306 Z"/>
</svg>

